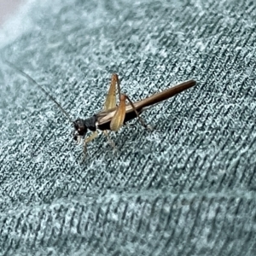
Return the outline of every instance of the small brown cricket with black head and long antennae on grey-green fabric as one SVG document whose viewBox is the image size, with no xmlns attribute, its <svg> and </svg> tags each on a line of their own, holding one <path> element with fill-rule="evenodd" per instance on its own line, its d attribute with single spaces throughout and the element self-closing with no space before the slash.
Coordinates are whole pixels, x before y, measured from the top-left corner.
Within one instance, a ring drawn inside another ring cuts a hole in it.
<svg viewBox="0 0 256 256">
<path fill-rule="evenodd" d="M 108 135 L 108 131 L 118 131 L 120 127 L 125 125 L 131 119 L 136 118 L 138 119 L 139 123 L 143 125 L 143 127 L 149 129 L 149 126 L 146 125 L 143 118 L 140 116 L 143 111 L 157 103 L 166 101 L 172 96 L 176 96 L 183 90 L 188 90 L 190 87 L 193 87 L 196 84 L 194 79 L 190 79 L 171 88 L 155 93 L 152 96 L 148 96 L 143 100 L 131 102 L 129 96 L 121 93 L 119 77 L 116 73 L 113 73 L 103 110 L 99 113 L 95 113 L 88 119 L 79 118 L 73 121 L 67 111 L 61 107 L 61 104 L 57 102 L 55 98 L 51 96 L 47 90 L 44 89 L 42 85 L 38 84 L 34 79 L 32 79 L 31 76 L 23 72 L 19 67 L 16 67 L 15 64 L 9 61 L 6 61 L 6 63 L 18 71 L 23 77 L 31 81 L 32 84 L 35 84 L 40 90 L 44 92 L 46 96 L 49 96 L 51 101 L 55 102 L 57 107 L 60 108 L 61 112 L 64 113 L 67 119 L 73 124 L 73 139 L 77 143 L 79 143 L 82 138 L 84 139 L 84 154 L 87 152 L 87 143 L 90 143 L 90 141 L 97 137 L 97 130 L 102 131 L 108 137 L 108 142 L 112 145 L 113 148 L 115 148 L 113 141 Z M 118 91 L 119 104 L 117 104 L 116 91 Z M 128 101 L 127 104 L 126 101 Z M 92 131 L 92 134 L 90 137 L 84 138 L 88 130 Z"/>
</svg>

